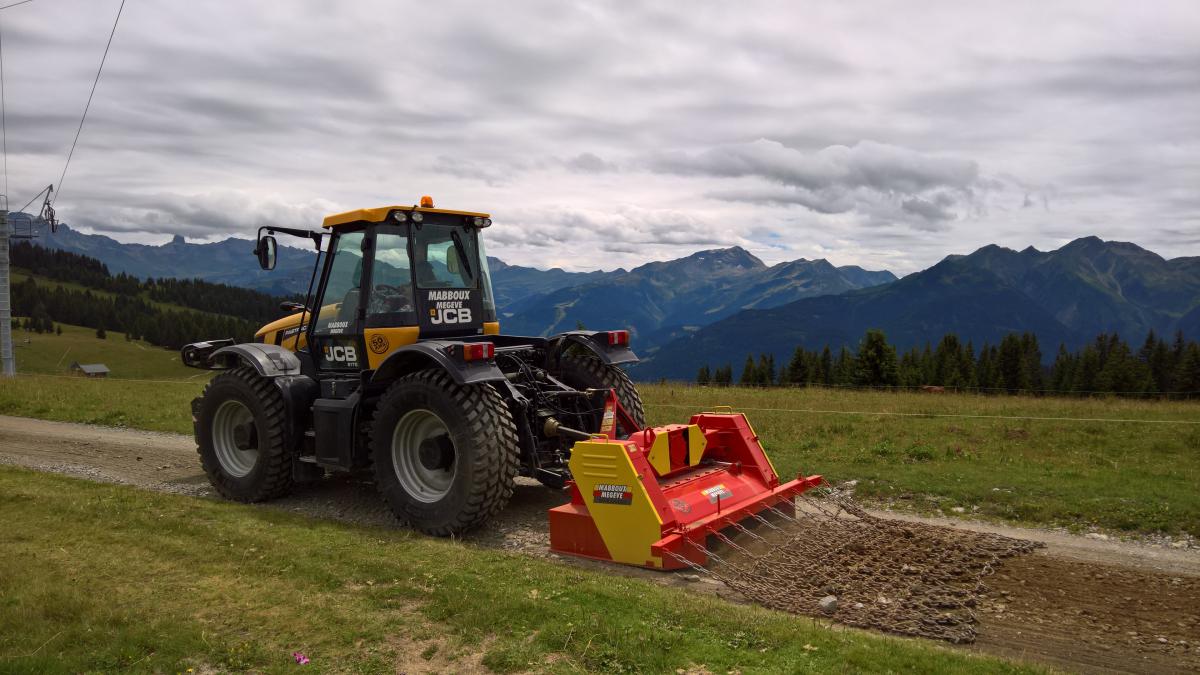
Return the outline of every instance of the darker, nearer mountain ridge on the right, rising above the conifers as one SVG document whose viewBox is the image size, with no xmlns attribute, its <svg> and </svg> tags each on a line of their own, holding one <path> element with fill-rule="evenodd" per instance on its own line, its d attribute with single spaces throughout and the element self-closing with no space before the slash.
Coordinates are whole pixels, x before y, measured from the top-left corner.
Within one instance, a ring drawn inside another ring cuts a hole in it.
<svg viewBox="0 0 1200 675">
<path fill-rule="evenodd" d="M 1134 344 L 1150 330 L 1196 335 L 1200 258 L 1165 259 L 1096 237 L 1055 251 L 984 246 L 892 283 L 738 312 L 647 354 L 636 374 L 690 378 L 701 364 L 737 365 L 748 353 L 786 363 L 797 346 L 853 347 L 869 328 L 899 350 L 947 333 L 978 347 L 1031 331 L 1048 360 L 1060 344 L 1076 348 L 1099 333 Z"/>
</svg>

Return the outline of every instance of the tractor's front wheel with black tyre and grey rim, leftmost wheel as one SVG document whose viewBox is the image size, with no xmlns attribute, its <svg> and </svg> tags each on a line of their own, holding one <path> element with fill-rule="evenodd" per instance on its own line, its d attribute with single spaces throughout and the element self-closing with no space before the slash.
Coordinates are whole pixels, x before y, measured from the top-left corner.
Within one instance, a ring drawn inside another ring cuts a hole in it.
<svg viewBox="0 0 1200 675">
<path fill-rule="evenodd" d="M 197 413 L 200 465 L 221 496 L 262 502 L 292 491 L 287 414 L 270 380 L 246 366 L 222 372 L 204 388 Z"/>
</svg>

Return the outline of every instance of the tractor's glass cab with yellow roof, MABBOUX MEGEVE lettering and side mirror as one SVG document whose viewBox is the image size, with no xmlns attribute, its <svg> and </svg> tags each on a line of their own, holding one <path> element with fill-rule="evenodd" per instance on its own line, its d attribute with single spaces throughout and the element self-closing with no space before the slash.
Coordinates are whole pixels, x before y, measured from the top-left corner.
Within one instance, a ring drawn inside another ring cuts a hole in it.
<svg viewBox="0 0 1200 675">
<path fill-rule="evenodd" d="M 358 209 L 325 219 L 330 235 L 313 307 L 264 327 L 258 339 L 298 350 L 311 345 L 319 370 L 378 368 L 397 347 L 421 339 L 496 334 L 487 256 L 487 214 L 420 205 Z M 277 228 L 276 228 L 277 229 Z M 275 243 L 259 239 L 264 269 Z"/>
</svg>

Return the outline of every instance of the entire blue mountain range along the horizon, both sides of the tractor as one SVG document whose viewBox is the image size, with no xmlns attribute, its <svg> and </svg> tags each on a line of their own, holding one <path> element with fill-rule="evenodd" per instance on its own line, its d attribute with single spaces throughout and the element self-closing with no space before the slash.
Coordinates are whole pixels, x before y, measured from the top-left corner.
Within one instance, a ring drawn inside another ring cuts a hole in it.
<svg viewBox="0 0 1200 675">
<path fill-rule="evenodd" d="M 98 258 L 114 274 L 199 277 L 280 295 L 305 292 L 313 261 L 311 251 L 281 246 L 276 270 L 264 273 L 246 239 L 176 237 L 151 246 L 67 226 L 38 243 Z M 1054 251 L 989 245 L 899 280 L 824 259 L 767 265 L 737 246 L 631 270 L 542 270 L 494 257 L 488 265 L 505 333 L 629 329 L 643 357 L 634 371 L 641 378 L 690 378 L 701 364 L 736 365 L 751 352 L 778 363 L 797 346 L 853 347 L 868 328 L 901 350 L 946 333 L 979 346 L 1032 331 L 1046 359 L 1058 344 L 1075 348 L 1102 331 L 1135 344 L 1151 329 L 1200 335 L 1200 257 L 1166 259 L 1096 237 Z"/>
</svg>

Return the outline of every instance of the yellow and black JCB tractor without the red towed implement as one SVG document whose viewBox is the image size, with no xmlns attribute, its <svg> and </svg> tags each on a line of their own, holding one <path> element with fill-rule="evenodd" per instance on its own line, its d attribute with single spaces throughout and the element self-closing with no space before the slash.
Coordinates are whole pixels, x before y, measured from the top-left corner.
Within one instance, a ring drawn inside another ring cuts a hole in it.
<svg viewBox="0 0 1200 675">
<path fill-rule="evenodd" d="M 323 232 L 260 228 L 263 269 L 276 234 L 312 240 L 317 262 L 307 301 L 286 303 L 294 313 L 254 342 L 182 348 L 187 365 L 223 371 L 192 402 L 216 490 L 257 502 L 370 471 L 401 520 L 446 536 L 503 508 L 518 474 L 563 488 L 576 441 L 641 429 L 618 368 L 637 360 L 626 330 L 500 334 L 480 237 L 491 223 L 422 197 L 329 216 Z"/>
</svg>

